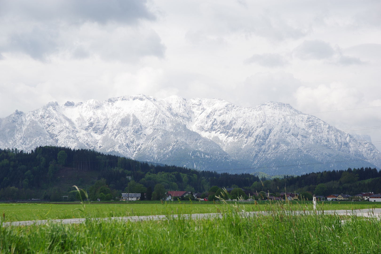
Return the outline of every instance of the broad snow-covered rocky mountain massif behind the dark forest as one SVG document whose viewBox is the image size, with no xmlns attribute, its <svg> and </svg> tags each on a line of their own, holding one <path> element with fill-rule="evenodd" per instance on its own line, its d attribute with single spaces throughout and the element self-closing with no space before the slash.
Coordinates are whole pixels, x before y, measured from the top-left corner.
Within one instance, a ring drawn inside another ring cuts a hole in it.
<svg viewBox="0 0 381 254">
<path fill-rule="evenodd" d="M 0 147 L 31 150 L 40 145 L 231 173 L 381 166 L 380 160 L 370 160 L 381 158 L 370 141 L 279 102 L 239 107 L 222 99 L 136 95 L 50 102 L 0 119 Z M 319 164 L 331 161 L 349 162 Z"/>
</svg>

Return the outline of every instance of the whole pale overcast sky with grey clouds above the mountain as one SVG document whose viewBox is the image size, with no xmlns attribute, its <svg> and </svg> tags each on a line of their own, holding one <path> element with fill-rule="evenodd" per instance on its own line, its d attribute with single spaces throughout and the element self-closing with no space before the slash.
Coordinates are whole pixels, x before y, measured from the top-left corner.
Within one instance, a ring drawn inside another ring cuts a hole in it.
<svg viewBox="0 0 381 254">
<path fill-rule="evenodd" d="M 380 1 L 0 0 L 0 31 L 0 117 L 141 93 L 381 106 Z M 381 125 L 381 107 L 315 115 Z"/>
</svg>

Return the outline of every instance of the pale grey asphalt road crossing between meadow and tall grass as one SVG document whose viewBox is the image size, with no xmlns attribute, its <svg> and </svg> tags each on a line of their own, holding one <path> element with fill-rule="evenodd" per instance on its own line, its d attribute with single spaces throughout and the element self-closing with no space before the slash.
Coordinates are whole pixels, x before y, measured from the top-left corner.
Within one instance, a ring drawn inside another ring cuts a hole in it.
<svg viewBox="0 0 381 254">
<path fill-rule="evenodd" d="M 291 215 L 302 215 L 302 214 L 338 214 L 338 215 L 347 215 L 347 216 L 363 216 L 363 217 L 376 217 L 381 219 L 381 208 L 377 209 L 357 209 L 357 210 L 328 210 L 328 211 L 285 211 L 286 214 Z M 271 212 L 240 212 L 240 216 L 242 217 L 255 217 L 260 214 L 269 215 Z M 128 217 L 110 217 L 110 218 L 93 218 L 93 220 L 121 220 L 127 221 L 130 220 L 132 222 L 142 221 L 142 220 L 164 220 L 164 219 L 178 219 L 179 217 L 184 219 L 214 219 L 214 218 L 222 218 L 222 213 L 202 213 L 202 214 L 181 214 L 181 215 L 151 215 L 151 216 L 128 216 Z M 3 227 L 6 226 L 28 226 L 28 225 L 41 225 L 46 224 L 48 222 L 53 223 L 62 223 L 62 224 L 79 224 L 85 222 L 85 218 L 81 219 L 62 219 L 62 220 L 26 220 L 26 221 L 14 221 L 14 222 L 3 222 Z"/>
</svg>

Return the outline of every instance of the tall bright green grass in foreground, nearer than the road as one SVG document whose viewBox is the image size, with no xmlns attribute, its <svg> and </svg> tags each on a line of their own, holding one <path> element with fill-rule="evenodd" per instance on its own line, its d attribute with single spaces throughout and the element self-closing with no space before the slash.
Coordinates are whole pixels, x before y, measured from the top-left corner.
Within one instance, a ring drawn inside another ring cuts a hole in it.
<svg viewBox="0 0 381 254">
<path fill-rule="evenodd" d="M 0 253 L 380 253 L 379 219 L 285 215 L 243 218 L 243 206 L 223 205 L 223 219 L 0 227 Z"/>
</svg>

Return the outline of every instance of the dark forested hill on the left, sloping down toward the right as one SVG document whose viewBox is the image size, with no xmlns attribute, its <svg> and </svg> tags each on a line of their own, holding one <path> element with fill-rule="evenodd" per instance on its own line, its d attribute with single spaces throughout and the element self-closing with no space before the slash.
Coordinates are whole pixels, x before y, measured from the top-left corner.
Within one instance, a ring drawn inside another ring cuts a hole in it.
<svg viewBox="0 0 381 254">
<path fill-rule="evenodd" d="M 100 181 L 97 185 L 107 185 L 113 196 L 124 192 L 128 184 L 130 192 L 138 191 L 133 188 L 151 187 L 153 190 L 156 184 L 162 184 L 166 190 L 197 192 L 213 185 L 228 187 L 235 184 L 250 188 L 253 182 L 259 181 L 251 174 L 219 174 L 178 166 L 150 165 L 92 150 L 50 146 L 37 147 L 30 152 L 0 150 L 0 179 L 3 179 L 0 200 L 70 195 L 74 184 L 90 192 L 90 187 L 97 181 Z"/>
</svg>

